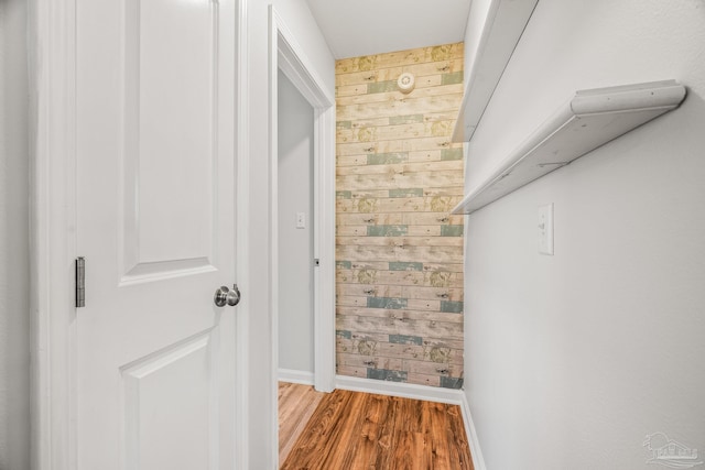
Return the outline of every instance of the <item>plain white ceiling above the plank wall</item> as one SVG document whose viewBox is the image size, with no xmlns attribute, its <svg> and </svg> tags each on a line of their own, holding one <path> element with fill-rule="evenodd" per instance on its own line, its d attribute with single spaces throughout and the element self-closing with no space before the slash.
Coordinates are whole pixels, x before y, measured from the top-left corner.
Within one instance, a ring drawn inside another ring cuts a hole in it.
<svg viewBox="0 0 705 470">
<path fill-rule="evenodd" d="M 471 0 L 306 0 L 335 58 L 462 42 Z"/>
</svg>

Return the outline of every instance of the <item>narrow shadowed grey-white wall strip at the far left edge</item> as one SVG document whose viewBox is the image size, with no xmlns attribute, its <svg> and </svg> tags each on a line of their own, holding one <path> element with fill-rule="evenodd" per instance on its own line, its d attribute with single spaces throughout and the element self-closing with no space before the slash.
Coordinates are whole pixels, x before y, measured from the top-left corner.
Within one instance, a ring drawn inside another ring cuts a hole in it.
<svg viewBox="0 0 705 470">
<path fill-rule="evenodd" d="M 0 469 L 30 468 L 26 7 L 0 2 Z"/>
</svg>

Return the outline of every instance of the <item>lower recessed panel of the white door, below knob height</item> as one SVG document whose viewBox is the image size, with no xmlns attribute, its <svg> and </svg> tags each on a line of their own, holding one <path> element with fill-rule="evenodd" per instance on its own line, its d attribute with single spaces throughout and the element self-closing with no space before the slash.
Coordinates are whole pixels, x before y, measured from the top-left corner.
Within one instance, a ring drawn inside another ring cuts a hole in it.
<svg viewBox="0 0 705 470">
<path fill-rule="evenodd" d="M 219 415 L 214 400 L 217 375 L 204 370 L 218 368 L 217 335 L 210 328 L 120 368 L 122 468 L 198 468 L 200 462 L 217 461 L 218 442 L 213 438 Z M 191 400 L 171 402 L 164 384 L 187 387 Z M 167 440 L 154 431 L 161 422 L 169 423 L 170 430 L 187 433 L 194 448 L 170 449 L 163 461 L 154 452 Z"/>
</svg>

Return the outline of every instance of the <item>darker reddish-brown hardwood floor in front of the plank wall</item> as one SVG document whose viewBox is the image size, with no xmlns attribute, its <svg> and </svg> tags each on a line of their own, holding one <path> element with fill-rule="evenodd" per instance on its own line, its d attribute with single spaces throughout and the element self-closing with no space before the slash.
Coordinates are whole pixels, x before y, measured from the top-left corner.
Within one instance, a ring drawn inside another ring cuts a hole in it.
<svg viewBox="0 0 705 470">
<path fill-rule="evenodd" d="M 321 398 L 280 462 L 296 470 L 473 469 L 458 406 L 343 390 Z"/>
</svg>

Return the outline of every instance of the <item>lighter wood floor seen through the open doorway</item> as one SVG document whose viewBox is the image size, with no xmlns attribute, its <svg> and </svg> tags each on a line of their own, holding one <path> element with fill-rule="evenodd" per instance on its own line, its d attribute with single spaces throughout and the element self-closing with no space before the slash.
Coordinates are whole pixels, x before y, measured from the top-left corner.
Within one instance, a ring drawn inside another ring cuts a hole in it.
<svg viewBox="0 0 705 470">
<path fill-rule="evenodd" d="M 325 393 L 316 392 L 311 385 L 279 382 L 279 461 L 294 447 L 308 418 Z"/>
</svg>

